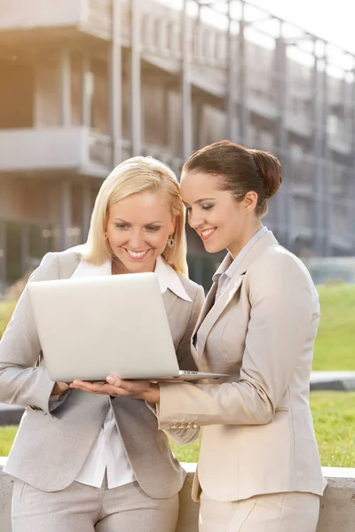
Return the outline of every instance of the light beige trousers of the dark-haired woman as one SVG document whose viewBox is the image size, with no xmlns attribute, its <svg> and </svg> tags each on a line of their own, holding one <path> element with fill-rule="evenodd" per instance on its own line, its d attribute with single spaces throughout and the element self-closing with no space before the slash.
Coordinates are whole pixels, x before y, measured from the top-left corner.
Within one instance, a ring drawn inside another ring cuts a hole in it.
<svg viewBox="0 0 355 532">
<path fill-rule="evenodd" d="M 316 532 L 319 496 L 275 493 L 221 503 L 201 493 L 200 532 Z"/>
</svg>

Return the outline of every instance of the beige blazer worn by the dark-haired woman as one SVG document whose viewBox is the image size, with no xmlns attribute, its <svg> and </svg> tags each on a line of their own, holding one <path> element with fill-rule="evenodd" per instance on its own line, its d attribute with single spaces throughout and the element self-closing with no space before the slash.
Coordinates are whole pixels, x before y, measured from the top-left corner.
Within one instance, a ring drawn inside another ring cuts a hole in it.
<svg viewBox="0 0 355 532">
<path fill-rule="evenodd" d="M 197 423 L 201 452 L 193 497 L 235 501 L 282 491 L 321 494 L 309 405 L 319 298 L 304 264 L 268 231 L 199 317 L 200 371 L 218 384 L 162 384 L 160 427 Z"/>
</svg>

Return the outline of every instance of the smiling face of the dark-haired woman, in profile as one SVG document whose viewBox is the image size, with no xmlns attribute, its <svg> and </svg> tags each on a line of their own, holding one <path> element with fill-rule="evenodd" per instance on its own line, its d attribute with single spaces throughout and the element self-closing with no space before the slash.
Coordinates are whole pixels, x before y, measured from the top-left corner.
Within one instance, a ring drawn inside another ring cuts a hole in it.
<svg viewBox="0 0 355 532">
<path fill-rule="evenodd" d="M 218 189 L 220 176 L 185 172 L 181 194 L 187 208 L 187 221 L 198 233 L 205 249 L 217 253 L 228 249 L 233 258 L 261 227 L 255 214 L 256 192 L 236 201 L 229 191 Z"/>
</svg>

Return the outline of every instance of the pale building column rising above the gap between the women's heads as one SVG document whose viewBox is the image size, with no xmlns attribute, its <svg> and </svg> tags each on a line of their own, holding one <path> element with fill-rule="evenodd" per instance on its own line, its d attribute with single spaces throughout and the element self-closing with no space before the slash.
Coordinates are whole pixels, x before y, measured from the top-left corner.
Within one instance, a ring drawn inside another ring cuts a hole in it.
<svg viewBox="0 0 355 532">
<path fill-rule="evenodd" d="M 187 160 L 192 153 L 193 118 L 191 92 L 191 25 L 187 10 L 188 0 L 184 0 L 181 13 L 182 60 L 181 60 L 181 98 L 182 98 L 182 156 Z"/>
</svg>

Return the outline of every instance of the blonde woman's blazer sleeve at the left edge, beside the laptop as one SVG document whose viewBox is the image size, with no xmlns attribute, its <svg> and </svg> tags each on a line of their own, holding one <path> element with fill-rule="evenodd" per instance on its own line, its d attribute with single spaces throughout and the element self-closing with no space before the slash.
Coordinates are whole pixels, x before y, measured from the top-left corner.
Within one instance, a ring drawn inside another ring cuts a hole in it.
<svg viewBox="0 0 355 532">
<path fill-rule="evenodd" d="M 58 257 L 46 254 L 28 282 L 58 278 Z M 17 404 L 46 414 L 61 403 L 50 402 L 55 383 L 45 366 L 36 367 L 40 354 L 41 344 L 26 287 L 0 340 L 0 403 Z"/>
</svg>

